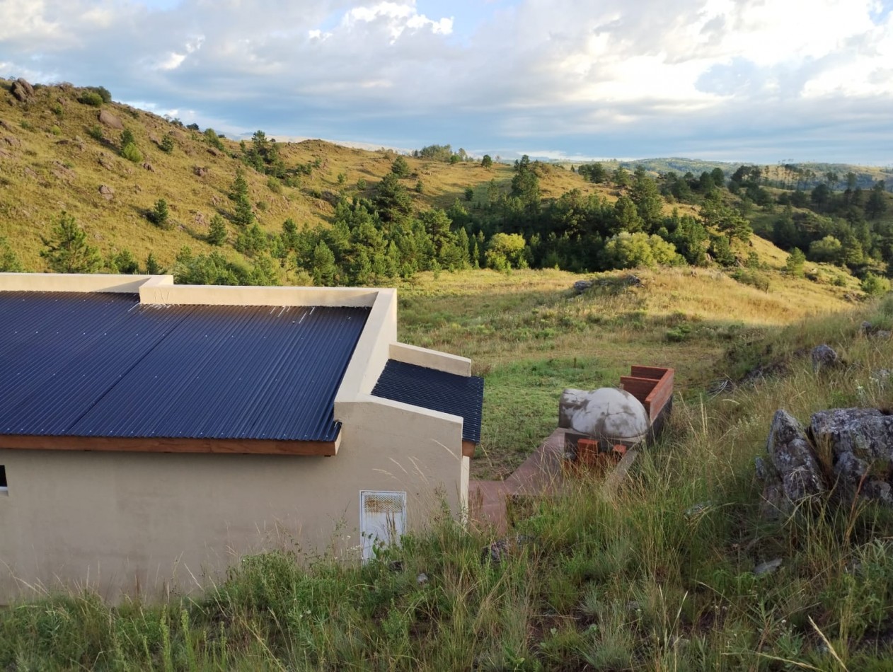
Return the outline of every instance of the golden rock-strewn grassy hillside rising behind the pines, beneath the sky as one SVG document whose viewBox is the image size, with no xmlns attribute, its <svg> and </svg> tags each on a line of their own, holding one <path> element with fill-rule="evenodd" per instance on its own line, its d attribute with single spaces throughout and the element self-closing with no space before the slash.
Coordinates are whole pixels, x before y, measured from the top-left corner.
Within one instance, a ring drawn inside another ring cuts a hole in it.
<svg viewBox="0 0 893 672">
<path fill-rule="evenodd" d="M 154 252 L 164 266 L 170 266 L 182 245 L 190 245 L 196 253 L 210 252 L 204 241 L 208 224 L 215 213 L 231 214 L 230 187 L 237 168 L 245 167 L 235 158 L 238 143 L 221 138 L 220 150 L 204 134 L 150 112 L 116 103 L 101 108 L 81 104 L 83 93 L 84 89 L 69 85 L 38 87 L 28 102 L 20 103 L 0 80 L 0 236 L 9 240 L 29 270 L 46 270 L 39 257 L 40 236 L 49 236 L 54 218 L 63 210 L 74 215 L 104 256 L 127 248 L 143 261 Z M 121 130 L 100 123 L 101 110 L 111 112 L 132 132 L 142 161 L 129 162 L 120 155 Z M 171 153 L 161 148 L 168 134 L 174 141 Z M 257 220 L 270 233 L 279 231 L 287 218 L 299 226 L 325 226 L 339 195 L 371 195 L 395 158 L 386 151 L 368 152 L 320 140 L 279 145 L 289 170 L 305 166 L 310 174 L 302 172 L 289 187 L 246 169 Z M 481 192 L 490 180 L 507 191 L 512 178 L 511 166 L 505 164 L 483 169 L 473 162 L 406 160 L 412 175 L 404 182 L 418 209 L 448 207 L 457 198 L 464 200 L 466 187 Z M 569 170 L 545 170 L 545 197 L 572 188 L 584 193 L 596 190 Z M 360 180 L 365 182 L 362 190 L 357 187 Z M 416 191 L 420 183 L 421 193 Z M 112 188 L 110 200 L 100 194 L 101 186 Z M 175 224 L 171 231 L 146 219 L 160 198 L 169 204 Z M 223 252 L 241 258 L 231 245 L 224 245 Z"/>
</svg>

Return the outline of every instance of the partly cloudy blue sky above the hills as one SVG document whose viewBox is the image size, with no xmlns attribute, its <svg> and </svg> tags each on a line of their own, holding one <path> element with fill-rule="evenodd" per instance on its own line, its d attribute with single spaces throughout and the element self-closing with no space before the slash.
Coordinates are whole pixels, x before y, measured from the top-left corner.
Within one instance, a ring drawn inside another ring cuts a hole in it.
<svg viewBox="0 0 893 672">
<path fill-rule="evenodd" d="M 229 137 L 893 165 L 893 0 L 0 0 L 0 76 Z"/>
</svg>

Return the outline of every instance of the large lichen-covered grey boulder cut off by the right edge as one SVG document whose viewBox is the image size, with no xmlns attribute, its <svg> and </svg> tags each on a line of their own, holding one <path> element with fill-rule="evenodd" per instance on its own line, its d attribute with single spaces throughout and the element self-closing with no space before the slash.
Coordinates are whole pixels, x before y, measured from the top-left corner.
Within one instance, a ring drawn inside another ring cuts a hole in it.
<svg viewBox="0 0 893 672">
<path fill-rule="evenodd" d="M 813 414 L 810 433 L 830 454 L 840 494 L 893 505 L 893 415 L 879 409 L 833 409 Z"/>
</svg>

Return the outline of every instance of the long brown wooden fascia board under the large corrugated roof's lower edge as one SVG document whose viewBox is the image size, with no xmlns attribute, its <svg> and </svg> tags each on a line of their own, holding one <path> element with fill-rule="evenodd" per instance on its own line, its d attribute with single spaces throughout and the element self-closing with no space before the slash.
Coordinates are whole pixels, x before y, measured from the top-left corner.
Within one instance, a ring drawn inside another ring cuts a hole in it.
<svg viewBox="0 0 893 672">
<path fill-rule="evenodd" d="M 0 448 L 38 451 L 213 452 L 251 455 L 335 455 L 335 441 L 143 438 L 115 436 L 0 436 Z"/>
</svg>

